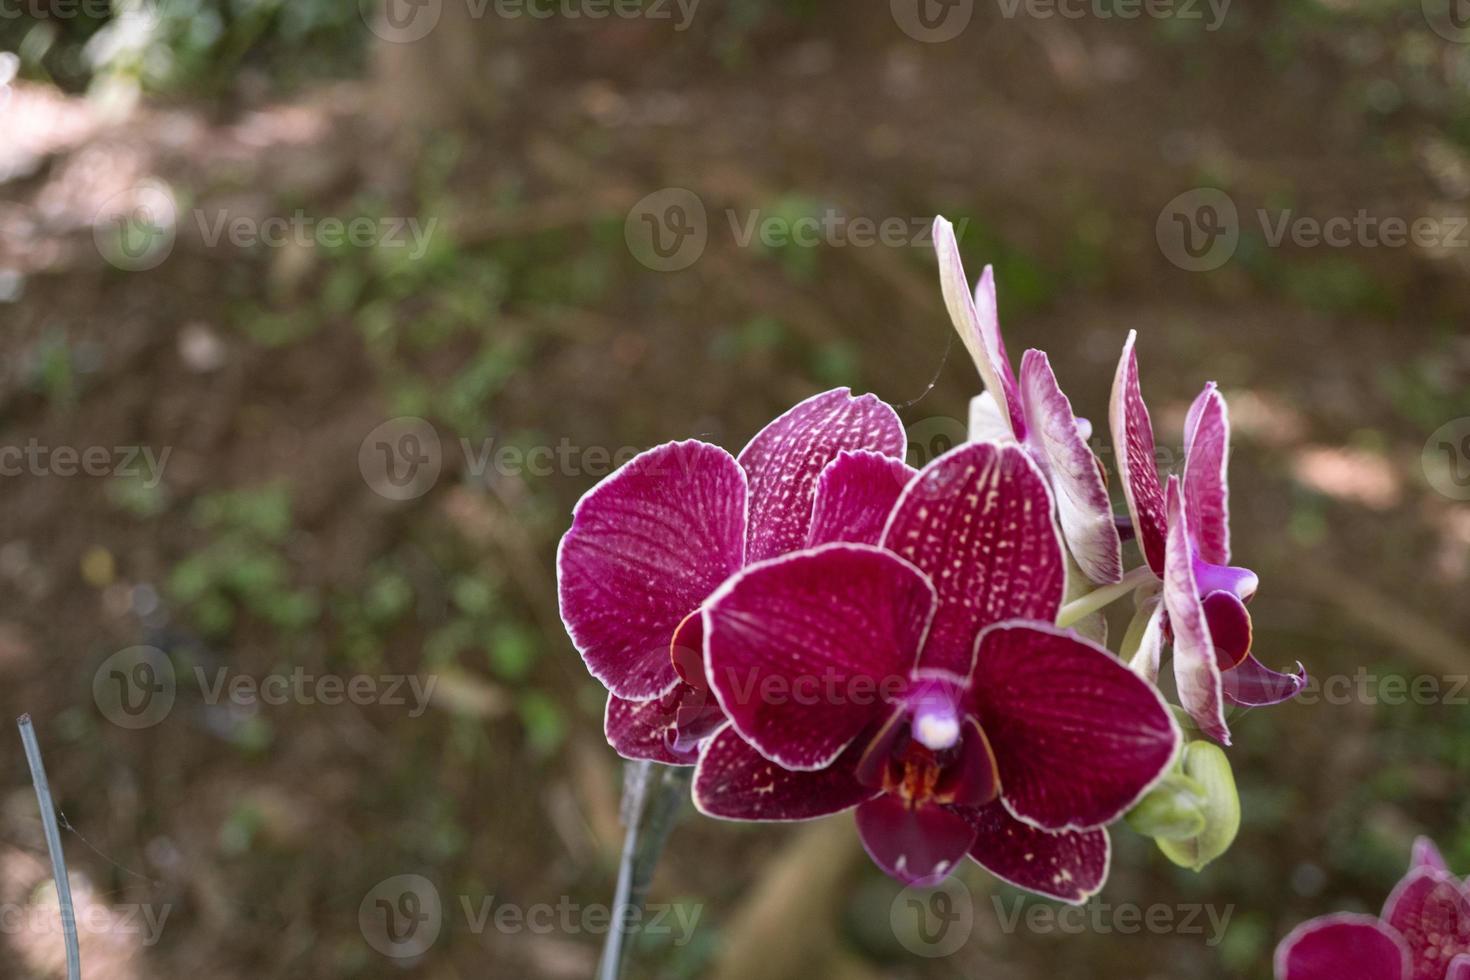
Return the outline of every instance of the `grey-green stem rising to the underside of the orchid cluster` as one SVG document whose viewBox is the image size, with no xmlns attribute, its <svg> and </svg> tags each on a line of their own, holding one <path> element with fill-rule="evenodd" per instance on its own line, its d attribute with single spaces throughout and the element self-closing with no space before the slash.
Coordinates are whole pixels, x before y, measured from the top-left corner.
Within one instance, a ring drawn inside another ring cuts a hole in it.
<svg viewBox="0 0 1470 980">
<path fill-rule="evenodd" d="M 679 815 L 694 770 L 686 765 L 628 763 L 623 770 L 623 855 L 617 864 L 613 921 L 603 945 L 597 980 L 620 980 L 628 962 L 629 909 L 642 909 L 653 873 Z"/>
</svg>

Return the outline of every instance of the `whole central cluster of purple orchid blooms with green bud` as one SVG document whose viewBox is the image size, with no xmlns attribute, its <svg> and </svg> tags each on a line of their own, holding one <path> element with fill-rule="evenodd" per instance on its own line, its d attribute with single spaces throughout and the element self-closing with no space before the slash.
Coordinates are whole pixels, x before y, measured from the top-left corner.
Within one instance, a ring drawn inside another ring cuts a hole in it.
<svg viewBox="0 0 1470 980">
<path fill-rule="evenodd" d="M 1251 651 L 1257 576 L 1230 564 L 1219 389 L 1195 400 L 1182 473 L 1161 482 L 1129 335 L 1110 411 L 1127 516 L 1114 516 L 1091 426 L 1047 356 L 1011 369 L 992 270 L 972 292 L 942 217 L 935 244 L 985 382 L 970 441 L 914 470 L 894 408 L 838 388 L 738 455 L 692 439 L 648 450 L 578 502 L 557 555 L 562 617 L 609 691 L 607 741 L 695 767 L 704 814 L 856 808 L 867 852 L 906 883 L 969 857 L 1083 902 L 1107 879 L 1117 818 L 1144 814 L 1135 826 L 1161 846 L 1201 830 L 1173 813 L 1205 795 L 1186 761 L 1210 754 L 1186 749 L 1160 693 L 1164 646 L 1180 717 L 1223 745 L 1227 705 L 1285 701 L 1305 674 Z M 1125 573 L 1129 530 L 1144 564 Z M 1091 614 L 1126 595 L 1120 655 Z M 1225 782 L 1233 801 L 1227 768 Z"/>
</svg>

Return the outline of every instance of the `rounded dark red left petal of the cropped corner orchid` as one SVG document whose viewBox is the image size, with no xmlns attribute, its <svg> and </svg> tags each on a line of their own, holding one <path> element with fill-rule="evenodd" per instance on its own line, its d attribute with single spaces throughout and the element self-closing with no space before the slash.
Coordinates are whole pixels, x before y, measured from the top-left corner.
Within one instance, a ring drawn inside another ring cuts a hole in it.
<svg viewBox="0 0 1470 980">
<path fill-rule="evenodd" d="M 1372 915 L 1313 918 L 1276 948 L 1276 980 L 1408 980 L 1410 970 L 1404 939 Z"/>
</svg>

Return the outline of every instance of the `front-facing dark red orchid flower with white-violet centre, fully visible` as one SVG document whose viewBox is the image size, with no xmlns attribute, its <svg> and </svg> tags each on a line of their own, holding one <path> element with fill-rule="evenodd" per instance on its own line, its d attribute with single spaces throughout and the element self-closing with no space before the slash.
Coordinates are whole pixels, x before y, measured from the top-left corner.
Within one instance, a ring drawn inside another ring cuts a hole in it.
<svg viewBox="0 0 1470 980">
<path fill-rule="evenodd" d="M 933 883 L 969 854 L 1083 902 L 1107 879 L 1101 827 L 1164 774 L 1180 733 L 1152 685 L 1053 626 L 1064 566 L 1039 467 L 979 442 L 904 488 L 878 547 L 739 572 L 704 607 L 731 724 L 704 749 L 695 804 L 729 820 L 857 807 L 900 880 Z"/>
</svg>

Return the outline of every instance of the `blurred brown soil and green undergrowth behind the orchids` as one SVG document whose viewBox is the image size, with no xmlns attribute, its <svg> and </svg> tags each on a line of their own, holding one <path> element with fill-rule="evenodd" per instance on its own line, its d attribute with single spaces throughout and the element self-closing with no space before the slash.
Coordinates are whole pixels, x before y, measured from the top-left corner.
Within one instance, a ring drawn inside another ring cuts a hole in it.
<svg viewBox="0 0 1470 980">
<path fill-rule="evenodd" d="M 0 707 L 37 718 L 85 976 L 589 976 L 620 765 L 557 617 L 570 505 L 835 385 L 944 448 L 979 382 L 935 213 L 1079 414 L 1141 332 L 1166 466 L 1220 382 L 1255 649 L 1338 686 L 1233 720 L 1226 858 L 1119 829 L 1080 929 L 969 868 L 945 956 L 848 817 L 686 814 L 653 901 L 697 926 L 634 976 L 1266 977 L 1416 835 L 1470 871 L 1454 1 L 0 1 Z M 1276 235 L 1360 213 L 1430 223 Z M 370 695 L 215 688 L 293 676 Z M 57 977 L 0 745 L 0 976 Z M 400 876 L 441 902 L 412 956 L 372 926 L 425 908 Z"/>
</svg>

